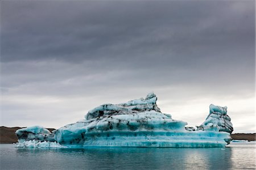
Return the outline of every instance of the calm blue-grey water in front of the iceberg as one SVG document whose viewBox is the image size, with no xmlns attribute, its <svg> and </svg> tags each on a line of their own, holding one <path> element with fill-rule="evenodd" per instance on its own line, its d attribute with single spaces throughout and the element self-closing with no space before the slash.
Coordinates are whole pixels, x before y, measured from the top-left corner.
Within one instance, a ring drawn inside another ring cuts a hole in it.
<svg viewBox="0 0 256 170">
<path fill-rule="evenodd" d="M 15 148 L 0 169 L 255 169 L 255 143 L 225 148 Z"/>
</svg>

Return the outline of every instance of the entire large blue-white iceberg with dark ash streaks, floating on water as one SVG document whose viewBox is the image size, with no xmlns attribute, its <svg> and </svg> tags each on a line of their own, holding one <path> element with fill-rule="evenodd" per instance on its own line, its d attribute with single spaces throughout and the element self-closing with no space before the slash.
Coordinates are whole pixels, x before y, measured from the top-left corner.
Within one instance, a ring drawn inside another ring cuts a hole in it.
<svg viewBox="0 0 256 170">
<path fill-rule="evenodd" d="M 50 133 L 42 126 L 16 131 L 18 147 L 224 147 L 233 131 L 227 107 L 210 105 L 200 126 L 173 120 L 156 105 L 150 93 L 145 99 L 104 104 L 89 111 L 85 120 Z"/>
</svg>

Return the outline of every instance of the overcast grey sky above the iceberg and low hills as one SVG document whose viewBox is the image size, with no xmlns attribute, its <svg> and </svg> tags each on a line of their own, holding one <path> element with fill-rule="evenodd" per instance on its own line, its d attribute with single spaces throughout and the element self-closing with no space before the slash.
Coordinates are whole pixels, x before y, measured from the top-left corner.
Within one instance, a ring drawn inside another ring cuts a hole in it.
<svg viewBox="0 0 256 170">
<path fill-rule="evenodd" d="M 1 1 L 1 126 L 46 128 L 158 96 L 200 125 L 255 131 L 255 1 Z"/>
</svg>

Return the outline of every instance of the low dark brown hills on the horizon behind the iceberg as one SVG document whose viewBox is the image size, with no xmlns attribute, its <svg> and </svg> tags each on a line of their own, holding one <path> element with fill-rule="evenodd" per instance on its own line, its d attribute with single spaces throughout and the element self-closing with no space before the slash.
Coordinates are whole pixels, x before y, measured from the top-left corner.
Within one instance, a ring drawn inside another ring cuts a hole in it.
<svg viewBox="0 0 256 170">
<path fill-rule="evenodd" d="M 15 131 L 21 129 L 19 127 L 7 128 L 5 126 L 0 127 L 0 143 L 15 143 L 18 142 L 18 138 L 15 135 Z M 49 131 L 53 131 L 53 128 L 47 128 Z M 256 141 L 255 133 L 234 133 L 231 137 L 234 140 L 247 140 Z"/>
</svg>

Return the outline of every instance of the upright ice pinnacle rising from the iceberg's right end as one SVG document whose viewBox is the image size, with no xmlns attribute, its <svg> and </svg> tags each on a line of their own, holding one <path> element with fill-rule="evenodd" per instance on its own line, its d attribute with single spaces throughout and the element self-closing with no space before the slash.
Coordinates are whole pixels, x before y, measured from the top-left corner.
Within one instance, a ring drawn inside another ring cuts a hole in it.
<svg viewBox="0 0 256 170">
<path fill-rule="evenodd" d="M 233 131 L 233 125 L 230 122 L 231 118 L 226 114 L 227 107 L 210 104 L 209 108 L 209 115 L 197 130 L 226 131 L 231 134 Z"/>
</svg>

